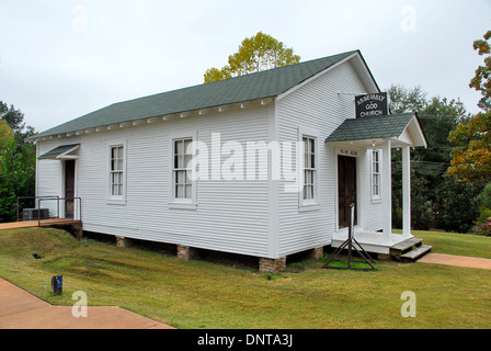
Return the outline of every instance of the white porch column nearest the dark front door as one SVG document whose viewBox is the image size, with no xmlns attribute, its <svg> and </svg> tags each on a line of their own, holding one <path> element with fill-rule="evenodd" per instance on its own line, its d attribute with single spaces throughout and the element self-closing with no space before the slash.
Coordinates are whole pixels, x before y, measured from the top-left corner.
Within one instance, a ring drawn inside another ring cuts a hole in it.
<svg viewBox="0 0 491 351">
<path fill-rule="evenodd" d="M 390 139 L 382 144 L 382 207 L 384 207 L 384 240 L 390 242 L 392 234 L 392 149 Z"/>
</svg>

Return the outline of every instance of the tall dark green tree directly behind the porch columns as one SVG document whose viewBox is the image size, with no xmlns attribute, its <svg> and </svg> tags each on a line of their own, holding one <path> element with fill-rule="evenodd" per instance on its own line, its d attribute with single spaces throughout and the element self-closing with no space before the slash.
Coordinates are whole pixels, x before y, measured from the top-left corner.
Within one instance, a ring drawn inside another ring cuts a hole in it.
<svg viewBox="0 0 491 351">
<path fill-rule="evenodd" d="M 421 126 L 429 140 L 429 148 L 411 150 L 411 212 L 414 229 L 429 229 L 436 220 L 435 208 L 444 206 L 442 203 L 442 184 L 444 176 L 450 166 L 450 150 L 453 145 L 448 134 L 457 126 L 458 121 L 467 121 L 469 114 L 460 100 L 433 97 L 427 99 L 421 87 L 407 89 L 401 86 L 391 86 L 388 90 L 389 109 L 392 113 L 415 112 L 420 117 Z M 392 216 L 396 225 L 401 222 L 402 205 L 402 163 L 399 150 L 392 150 Z M 455 181 L 446 181 L 446 192 L 457 191 L 450 186 Z M 459 216 L 459 213 L 456 213 Z M 467 218 L 457 218 L 467 223 Z M 453 223 L 455 224 L 455 222 Z M 446 226 L 446 229 L 449 227 Z"/>
</svg>

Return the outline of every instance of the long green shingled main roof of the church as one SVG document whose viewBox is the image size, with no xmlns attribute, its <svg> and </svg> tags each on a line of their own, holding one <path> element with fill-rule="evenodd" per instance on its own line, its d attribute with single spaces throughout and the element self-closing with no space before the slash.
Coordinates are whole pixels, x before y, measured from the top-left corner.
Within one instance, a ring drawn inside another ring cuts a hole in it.
<svg viewBox="0 0 491 351">
<path fill-rule="evenodd" d="M 359 52 L 347 52 L 292 66 L 114 103 L 39 133 L 32 138 L 277 97 L 355 53 Z"/>
</svg>

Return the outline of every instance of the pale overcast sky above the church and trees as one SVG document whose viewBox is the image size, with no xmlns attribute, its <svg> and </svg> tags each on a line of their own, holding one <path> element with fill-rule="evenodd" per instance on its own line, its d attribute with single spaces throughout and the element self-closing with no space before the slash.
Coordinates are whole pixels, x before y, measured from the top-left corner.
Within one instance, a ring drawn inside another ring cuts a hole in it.
<svg viewBox="0 0 491 351">
<path fill-rule="evenodd" d="M 478 113 L 491 0 L 0 0 L 0 101 L 43 132 L 201 84 L 259 31 L 301 61 L 359 49 L 382 91 L 420 86 Z"/>
</svg>

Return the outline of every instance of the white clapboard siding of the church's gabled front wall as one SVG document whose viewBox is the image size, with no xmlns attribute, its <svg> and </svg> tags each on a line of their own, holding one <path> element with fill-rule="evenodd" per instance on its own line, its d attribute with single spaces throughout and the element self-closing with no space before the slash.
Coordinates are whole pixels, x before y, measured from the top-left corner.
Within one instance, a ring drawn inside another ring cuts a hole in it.
<svg viewBox="0 0 491 351">
<path fill-rule="evenodd" d="M 336 230 L 336 155 L 324 139 L 347 117 L 354 117 L 354 95 L 368 91 L 352 64 L 340 65 L 326 75 L 287 94 L 277 102 L 279 140 L 298 140 L 298 131 L 317 131 L 319 169 L 319 210 L 299 211 L 297 193 L 279 192 L 278 256 L 329 245 Z M 358 152 L 358 214 L 361 225 L 378 227 L 380 207 L 370 203 L 370 167 L 368 152 Z M 281 186 L 282 189 L 282 186 Z M 381 227 L 381 225 L 380 225 Z M 377 228 L 379 229 L 379 228 Z"/>
</svg>

